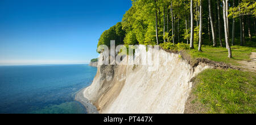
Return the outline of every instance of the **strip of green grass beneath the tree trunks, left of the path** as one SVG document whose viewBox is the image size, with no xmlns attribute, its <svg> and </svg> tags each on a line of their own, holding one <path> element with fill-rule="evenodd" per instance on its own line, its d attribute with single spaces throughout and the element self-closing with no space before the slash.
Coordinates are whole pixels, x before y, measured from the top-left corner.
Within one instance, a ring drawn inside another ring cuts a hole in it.
<svg viewBox="0 0 256 125">
<path fill-rule="evenodd" d="M 197 51 L 197 45 L 195 49 L 187 50 L 189 55 L 193 58 L 207 58 L 213 61 L 221 61 L 227 64 L 240 65 L 238 61 L 250 60 L 251 52 L 256 52 L 256 47 L 243 47 L 234 45 L 232 46 L 232 59 L 228 58 L 228 50 L 225 47 L 213 47 L 210 45 L 203 45 L 202 51 Z"/>
</svg>

